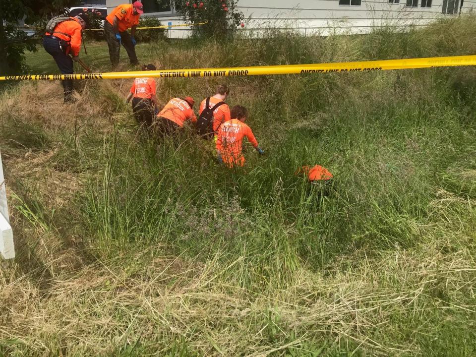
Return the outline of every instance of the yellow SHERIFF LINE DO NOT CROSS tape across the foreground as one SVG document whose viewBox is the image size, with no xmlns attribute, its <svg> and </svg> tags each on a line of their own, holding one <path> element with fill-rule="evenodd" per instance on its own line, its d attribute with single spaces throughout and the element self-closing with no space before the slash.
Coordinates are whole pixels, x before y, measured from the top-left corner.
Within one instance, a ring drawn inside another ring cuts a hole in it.
<svg viewBox="0 0 476 357">
<path fill-rule="evenodd" d="M 363 62 L 340 62 L 319 64 L 291 64 L 275 66 L 164 69 L 156 71 L 106 72 L 89 74 L 32 74 L 2 76 L 0 80 L 58 80 L 58 79 L 122 79 L 122 78 L 178 78 L 252 76 L 269 74 L 309 74 L 335 72 L 368 72 L 390 69 L 412 69 L 448 66 L 476 65 L 476 55 L 454 57 L 430 57 L 407 60 L 376 60 Z"/>
</svg>

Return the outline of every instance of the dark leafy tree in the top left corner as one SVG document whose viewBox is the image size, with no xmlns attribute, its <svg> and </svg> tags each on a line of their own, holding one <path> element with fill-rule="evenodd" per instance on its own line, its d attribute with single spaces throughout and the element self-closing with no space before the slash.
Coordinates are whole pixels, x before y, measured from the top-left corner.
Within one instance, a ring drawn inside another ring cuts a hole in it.
<svg viewBox="0 0 476 357">
<path fill-rule="evenodd" d="M 0 1 L 0 73 L 24 72 L 25 51 L 36 51 L 37 36 L 28 36 L 18 28 L 24 19 L 26 25 L 41 28 L 52 16 L 62 12 L 78 0 L 1 0 Z"/>
</svg>

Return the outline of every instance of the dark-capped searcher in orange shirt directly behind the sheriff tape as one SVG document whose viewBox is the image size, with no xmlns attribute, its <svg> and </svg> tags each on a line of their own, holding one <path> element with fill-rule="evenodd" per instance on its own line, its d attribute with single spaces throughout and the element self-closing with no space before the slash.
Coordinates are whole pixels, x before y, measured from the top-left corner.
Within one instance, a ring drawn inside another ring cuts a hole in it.
<svg viewBox="0 0 476 357">
<path fill-rule="evenodd" d="M 144 64 L 142 70 L 156 70 L 153 64 Z M 157 97 L 155 93 L 154 78 L 136 78 L 129 94 L 125 99 L 129 103 L 132 98 L 132 111 L 139 124 L 145 124 L 148 127 L 154 121 L 154 112 L 157 108 Z"/>
</svg>

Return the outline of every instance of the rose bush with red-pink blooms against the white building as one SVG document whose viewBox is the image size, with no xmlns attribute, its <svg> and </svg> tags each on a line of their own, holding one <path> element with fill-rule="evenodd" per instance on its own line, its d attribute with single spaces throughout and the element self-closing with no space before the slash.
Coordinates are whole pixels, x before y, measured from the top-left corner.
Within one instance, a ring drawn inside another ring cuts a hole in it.
<svg viewBox="0 0 476 357">
<path fill-rule="evenodd" d="M 224 37 L 238 26 L 243 27 L 244 15 L 237 9 L 238 0 L 176 0 L 177 13 L 192 26 L 194 35 Z M 242 25 L 243 24 L 243 25 Z"/>
</svg>

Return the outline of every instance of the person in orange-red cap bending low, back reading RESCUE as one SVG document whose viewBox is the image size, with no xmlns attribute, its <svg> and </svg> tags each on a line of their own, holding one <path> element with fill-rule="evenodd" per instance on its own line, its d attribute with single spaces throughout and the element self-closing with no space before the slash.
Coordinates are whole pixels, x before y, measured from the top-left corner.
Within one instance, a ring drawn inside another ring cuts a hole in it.
<svg viewBox="0 0 476 357">
<path fill-rule="evenodd" d="M 167 103 L 159 114 L 157 114 L 157 124 L 162 135 L 170 135 L 183 127 L 186 120 L 192 123 L 197 122 L 197 118 L 193 113 L 193 105 L 195 101 L 192 97 L 183 99 L 173 98 Z"/>
</svg>

